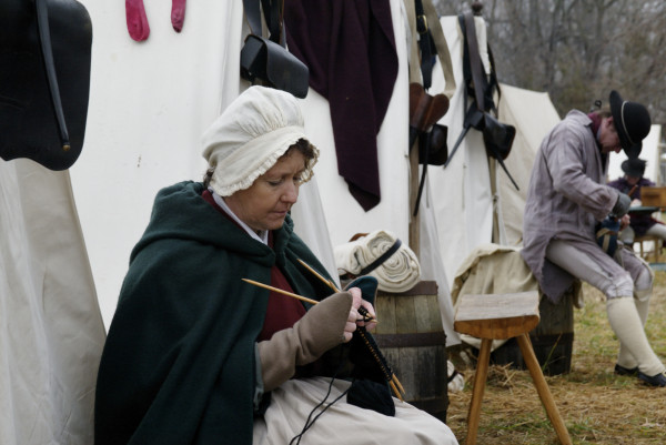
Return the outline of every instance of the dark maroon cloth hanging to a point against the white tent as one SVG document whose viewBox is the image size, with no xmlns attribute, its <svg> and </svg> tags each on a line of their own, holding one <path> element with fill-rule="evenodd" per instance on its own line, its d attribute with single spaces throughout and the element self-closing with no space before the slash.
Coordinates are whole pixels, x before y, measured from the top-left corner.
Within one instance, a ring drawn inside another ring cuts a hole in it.
<svg viewBox="0 0 666 445">
<path fill-rule="evenodd" d="M 329 100 L 337 171 L 364 210 L 381 200 L 376 134 L 397 77 L 389 0 L 290 0 L 289 50 Z M 406 143 L 407 141 L 405 141 Z"/>
</svg>

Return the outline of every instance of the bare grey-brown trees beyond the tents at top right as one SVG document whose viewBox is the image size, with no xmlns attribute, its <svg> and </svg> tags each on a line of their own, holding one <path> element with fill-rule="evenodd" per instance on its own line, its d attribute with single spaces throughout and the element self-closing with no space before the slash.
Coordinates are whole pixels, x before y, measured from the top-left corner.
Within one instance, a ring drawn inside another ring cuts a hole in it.
<svg viewBox="0 0 666 445">
<path fill-rule="evenodd" d="M 440 14 L 470 1 L 433 0 Z M 486 0 L 483 17 L 501 82 L 547 91 L 561 115 L 587 111 L 610 90 L 666 123 L 666 2 Z"/>
</svg>

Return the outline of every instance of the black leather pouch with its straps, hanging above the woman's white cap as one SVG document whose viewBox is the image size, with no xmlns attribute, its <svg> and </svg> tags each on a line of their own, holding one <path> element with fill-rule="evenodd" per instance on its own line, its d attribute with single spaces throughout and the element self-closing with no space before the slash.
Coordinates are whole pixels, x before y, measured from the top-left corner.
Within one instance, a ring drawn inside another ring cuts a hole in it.
<svg viewBox="0 0 666 445">
<path fill-rule="evenodd" d="M 270 38 L 261 37 L 261 13 L 264 9 Z M 244 0 L 245 17 L 252 31 L 241 49 L 241 77 L 253 84 L 263 84 L 303 99 L 307 95 L 310 71 L 286 50 L 284 44 L 283 1 Z M 280 44 L 280 43 L 283 44 Z"/>
</svg>

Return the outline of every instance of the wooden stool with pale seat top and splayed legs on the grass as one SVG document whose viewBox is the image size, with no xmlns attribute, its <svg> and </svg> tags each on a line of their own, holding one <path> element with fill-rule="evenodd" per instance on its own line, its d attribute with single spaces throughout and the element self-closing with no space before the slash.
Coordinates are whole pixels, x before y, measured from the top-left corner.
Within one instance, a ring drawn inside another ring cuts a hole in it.
<svg viewBox="0 0 666 445">
<path fill-rule="evenodd" d="M 541 371 L 527 333 L 538 324 L 538 292 L 514 294 L 466 294 L 458 297 L 458 306 L 453 327 L 462 334 L 481 338 L 481 351 L 474 376 L 474 392 L 467 415 L 467 445 L 476 444 L 481 402 L 491 360 L 493 340 L 516 337 L 518 346 L 529 370 L 536 392 L 546 408 L 546 413 L 559 443 L 571 445 L 568 431 L 555 406 L 551 390 Z"/>
</svg>

